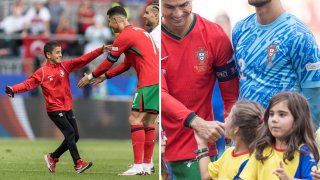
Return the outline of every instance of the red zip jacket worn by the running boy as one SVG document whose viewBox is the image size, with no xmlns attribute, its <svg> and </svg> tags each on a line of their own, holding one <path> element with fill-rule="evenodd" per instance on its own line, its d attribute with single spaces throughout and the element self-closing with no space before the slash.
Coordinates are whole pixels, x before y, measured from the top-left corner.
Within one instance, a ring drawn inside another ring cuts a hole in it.
<svg viewBox="0 0 320 180">
<path fill-rule="evenodd" d="M 48 112 L 69 111 L 72 109 L 69 74 L 93 61 L 101 54 L 102 50 L 98 48 L 79 58 L 62 61 L 58 64 L 47 62 L 27 80 L 14 85 L 12 87 L 13 91 L 15 93 L 22 93 L 40 85 Z"/>
</svg>

